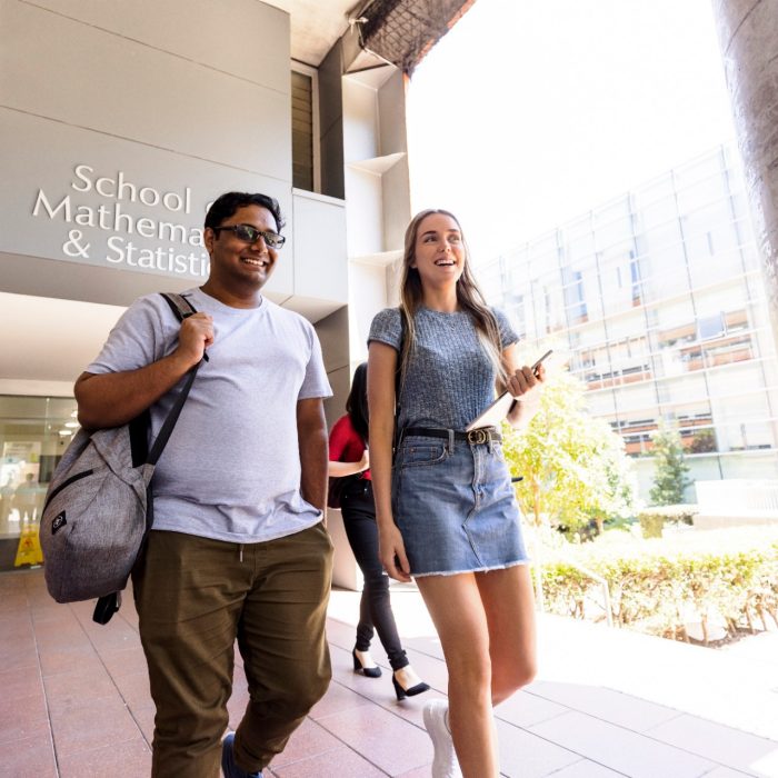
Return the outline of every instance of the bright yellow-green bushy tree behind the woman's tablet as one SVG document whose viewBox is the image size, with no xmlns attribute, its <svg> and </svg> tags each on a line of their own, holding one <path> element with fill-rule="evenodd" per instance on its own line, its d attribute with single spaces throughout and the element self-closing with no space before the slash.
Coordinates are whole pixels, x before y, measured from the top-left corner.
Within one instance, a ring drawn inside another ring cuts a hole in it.
<svg viewBox="0 0 778 778">
<path fill-rule="evenodd" d="M 628 516 L 637 491 L 621 436 L 585 410 L 584 383 L 549 370 L 540 409 L 522 431 L 506 435 L 506 458 L 516 476 L 525 516 L 536 526 L 576 529 L 592 518 Z"/>
</svg>

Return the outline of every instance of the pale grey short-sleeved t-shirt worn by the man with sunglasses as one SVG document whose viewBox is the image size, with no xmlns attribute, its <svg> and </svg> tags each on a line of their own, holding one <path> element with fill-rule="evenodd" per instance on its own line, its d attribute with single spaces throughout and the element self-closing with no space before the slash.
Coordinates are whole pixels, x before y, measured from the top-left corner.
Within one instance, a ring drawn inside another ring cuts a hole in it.
<svg viewBox="0 0 778 778">
<path fill-rule="evenodd" d="M 154 472 L 153 528 L 249 543 L 313 526 L 322 517 L 300 495 L 297 402 L 332 395 L 313 327 L 265 298 L 241 309 L 200 289 L 184 296 L 213 317 L 215 340 Z M 141 297 L 87 372 L 150 365 L 179 329 L 161 295 Z M 151 440 L 182 383 L 151 407 Z"/>
</svg>

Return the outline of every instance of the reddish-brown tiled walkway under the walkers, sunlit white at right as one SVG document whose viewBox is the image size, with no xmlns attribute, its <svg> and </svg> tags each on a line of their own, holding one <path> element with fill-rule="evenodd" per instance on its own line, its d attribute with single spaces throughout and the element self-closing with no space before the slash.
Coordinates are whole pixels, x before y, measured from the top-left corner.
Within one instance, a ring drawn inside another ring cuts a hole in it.
<svg viewBox="0 0 778 778">
<path fill-rule="evenodd" d="M 368 679 L 351 671 L 357 601 L 333 592 L 332 684 L 267 775 L 430 775 L 421 706 L 443 696 L 447 676 L 423 607 L 412 590 L 393 595 L 411 661 L 433 687 L 398 704 L 388 672 Z M 538 680 L 497 709 L 503 775 L 778 776 L 771 652 L 740 659 L 541 617 L 540 657 Z M 90 604 L 56 605 L 42 571 L 0 573 L 0 776 L 149 775 L 153 705 L 131 601 L 100 627 Z M 233 724 L 246 705 L 241 672 Z"/>
</svg>

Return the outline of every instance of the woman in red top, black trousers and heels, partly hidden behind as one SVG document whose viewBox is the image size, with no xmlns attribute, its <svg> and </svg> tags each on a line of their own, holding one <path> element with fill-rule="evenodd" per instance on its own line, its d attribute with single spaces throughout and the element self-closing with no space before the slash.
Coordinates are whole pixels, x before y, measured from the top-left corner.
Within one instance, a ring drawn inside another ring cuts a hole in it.
<svg viewBox="0 0 778 778">
<path fill-rule="evenodd" d="M 427 691 L 429 686 L 416 675 L 402 649 L 389 601 L 389 579 L 378 558 L 376 506 L 368 469 L 367 369 L 363 362 L 355 370 L 346 401 L 346 416 L 336 421 L 330 432 L 329 475 L 351 477 L 341 492 L 340 510 L 346 535 L 365 581 L 359 604 L 357 644 L 351 651 L 353 669 L 368 678 L 380 677 L 381 668 L 370 656 L 375 627 L 393 671 L 391 680 L 395 694 L 401 700 Z"/>
</svg>

